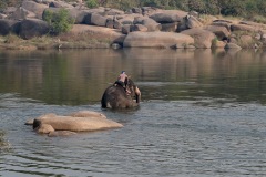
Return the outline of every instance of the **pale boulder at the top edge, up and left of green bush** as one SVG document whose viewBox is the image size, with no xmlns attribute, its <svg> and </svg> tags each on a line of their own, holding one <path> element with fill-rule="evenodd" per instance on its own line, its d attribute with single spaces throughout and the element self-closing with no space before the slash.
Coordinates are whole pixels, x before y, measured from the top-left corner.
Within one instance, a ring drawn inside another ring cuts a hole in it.
<svg viewBox="0 0 266 177">
<path fill-rule="evenodd" d="M 42 19 L 44 9 L 49 8 L 47 4 L 37 3 L 34 1 L 23 1 L 21 8 L 31 11 L 38 19 Z"/>
</svg>

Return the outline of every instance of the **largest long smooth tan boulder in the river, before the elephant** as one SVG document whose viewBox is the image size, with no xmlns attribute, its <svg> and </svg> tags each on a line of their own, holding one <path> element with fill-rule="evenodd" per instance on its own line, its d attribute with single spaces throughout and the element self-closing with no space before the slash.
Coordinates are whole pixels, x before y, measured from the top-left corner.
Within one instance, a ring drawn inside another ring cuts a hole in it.
<svg viewBox="0 0 266 177">
<path fill-rule="evenodd" d="M 102 114 L 89 116 L 61 116 L 55 114 L 45 114 L 34 118 L 33 129 L 39 129 L 45 125 L 49 128 L 43 128 L 45 133 L 54 131 L 71 131 L 71 132 L 89 132 L 110 128 L 123 127 L 114 121 L 103 118 Z"/>
</svg>

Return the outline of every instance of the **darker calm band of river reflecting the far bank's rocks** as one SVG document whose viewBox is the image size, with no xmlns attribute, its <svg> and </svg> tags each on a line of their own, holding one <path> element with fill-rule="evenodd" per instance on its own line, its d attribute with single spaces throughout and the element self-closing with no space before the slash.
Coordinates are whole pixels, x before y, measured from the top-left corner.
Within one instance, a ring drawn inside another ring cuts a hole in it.
<svg viewBox="0 0 266 177">
<path fill-rule="evenodd" d="M 20 93 L 49 104 L 98 103 L 104 88 L 125 70 L 140 84 L 144 100 L 211 96 L 265 103 L 265 66 L 260 51 L 6 52 L 0 53 L 0 92 Z"/>
</svg>

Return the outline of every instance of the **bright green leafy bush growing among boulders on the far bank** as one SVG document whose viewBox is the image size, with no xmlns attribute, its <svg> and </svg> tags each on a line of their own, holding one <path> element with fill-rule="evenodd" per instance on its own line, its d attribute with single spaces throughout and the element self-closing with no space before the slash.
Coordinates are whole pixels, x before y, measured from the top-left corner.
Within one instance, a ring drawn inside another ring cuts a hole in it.
<svg viewBox="0 0 266 177">
<path fill-rule="evenodd" d="M 51 34 L 61 34 L 72 29 L 74 19 L 70 17 L 69 11 L 60 9 L 58 12 L 45 11 L 43 20 L 50 25 Z"/>
</svg>

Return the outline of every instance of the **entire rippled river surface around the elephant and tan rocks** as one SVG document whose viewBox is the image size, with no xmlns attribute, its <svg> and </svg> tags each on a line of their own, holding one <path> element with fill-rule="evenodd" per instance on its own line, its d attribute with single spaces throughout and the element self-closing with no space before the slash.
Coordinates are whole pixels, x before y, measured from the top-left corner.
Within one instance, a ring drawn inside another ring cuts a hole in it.
<svg viewBox="0 0 266 177">
<path fill-rule="evenodd" d="M 102 110 L 125 70 L 137 110 Z M 0 52 L 0 176 L 264 177 L 266 53 L 212 50 Z M 96 111 L 124 127 L 70 137 L 24 123 Z"/>
</svg>

